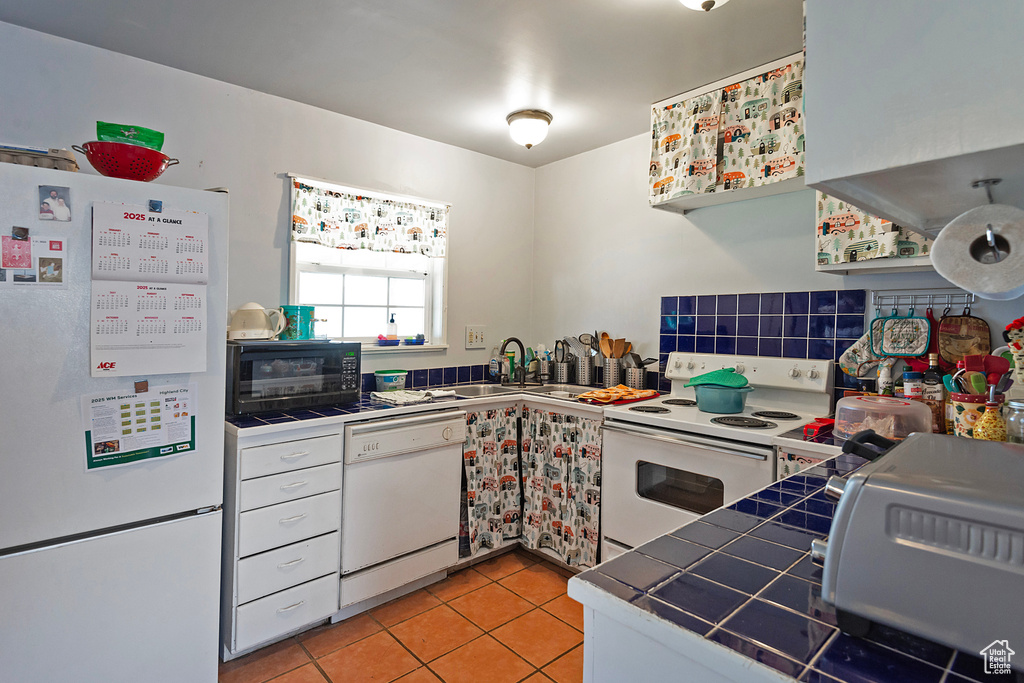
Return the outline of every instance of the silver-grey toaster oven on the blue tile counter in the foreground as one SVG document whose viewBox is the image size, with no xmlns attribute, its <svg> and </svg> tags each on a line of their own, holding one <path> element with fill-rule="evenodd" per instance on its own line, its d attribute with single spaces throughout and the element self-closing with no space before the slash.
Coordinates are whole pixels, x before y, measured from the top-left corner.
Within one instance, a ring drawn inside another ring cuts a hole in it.
<svg viewBox="0 0 1024 683">
<path fill-rule="evenodd" d="M 812 557 L 824 562 L 821 594 L 840 628 L 864 635 L 877 622 L 982 657 L 1019 650 L 1021 482 L 1024 446 L 926 433 L 829 479 L 839 504 Z"/>
</svg>

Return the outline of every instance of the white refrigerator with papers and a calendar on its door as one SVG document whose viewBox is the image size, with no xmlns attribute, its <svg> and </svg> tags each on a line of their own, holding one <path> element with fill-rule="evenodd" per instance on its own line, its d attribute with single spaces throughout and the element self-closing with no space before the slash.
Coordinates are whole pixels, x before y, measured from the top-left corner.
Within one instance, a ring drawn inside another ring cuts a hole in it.
<svg viewBox="0 0 1024 683">
<path fill-rule="evenodd" d="M 41 219 L 48 186 L 70 221 Z M 94 378 L 92 207 L 151 200 L 209 216 L 206 371 Z M 62 256 L 34 264 L 61 286 L 0 282 L 0 680 L 217 680 L 227 224 L 225 194 L 0 163 L 0 236 Z M 136 380 L 196 387 L 194 449 L 87 469 L 82 397 Z"/>
</svg>

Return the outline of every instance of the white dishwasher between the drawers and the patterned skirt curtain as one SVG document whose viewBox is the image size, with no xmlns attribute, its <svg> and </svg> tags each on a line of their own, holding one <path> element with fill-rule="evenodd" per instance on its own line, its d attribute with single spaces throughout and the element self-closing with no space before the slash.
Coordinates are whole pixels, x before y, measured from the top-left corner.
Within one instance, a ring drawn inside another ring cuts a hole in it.
<svg viewBox="0 0 1024 683">
<path fill-rule="evenodd" d="M 341 607 L 459 561 L 465 411 L 345 427 Z"/>
</svg>

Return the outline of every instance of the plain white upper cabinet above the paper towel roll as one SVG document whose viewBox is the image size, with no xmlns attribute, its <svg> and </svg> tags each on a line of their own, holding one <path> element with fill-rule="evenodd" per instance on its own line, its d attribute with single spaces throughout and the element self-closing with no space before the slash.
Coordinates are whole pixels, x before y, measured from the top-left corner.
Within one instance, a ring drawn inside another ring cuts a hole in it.
<svg viewBox="0 0 1024 683">
<path fill-rule="evenodd" d="M 807 0 L 807 184 L 934 231 L 1024 197 L 1024 2 Z"/>
</svg>

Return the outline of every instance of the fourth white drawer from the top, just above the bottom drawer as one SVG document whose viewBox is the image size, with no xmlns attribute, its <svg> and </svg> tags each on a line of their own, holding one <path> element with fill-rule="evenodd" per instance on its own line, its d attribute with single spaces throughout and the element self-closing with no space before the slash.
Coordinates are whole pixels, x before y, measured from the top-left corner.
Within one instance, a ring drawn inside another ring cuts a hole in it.
<svg viewBox="0 0 1024 683">
<path fill-rule="evenodd" d="M 341 535 L 337 531 L 239 560 L 239 604 L 337 572 L 340 565 Z"/>
</svg>

